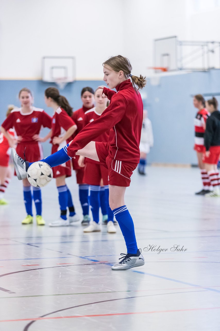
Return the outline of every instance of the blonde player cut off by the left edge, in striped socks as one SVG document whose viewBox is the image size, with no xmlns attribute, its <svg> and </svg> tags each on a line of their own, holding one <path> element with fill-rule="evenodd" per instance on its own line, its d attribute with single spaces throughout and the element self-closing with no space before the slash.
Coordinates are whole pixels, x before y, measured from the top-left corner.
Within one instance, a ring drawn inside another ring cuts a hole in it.
<svg viewBox="0 0 220 331">
<path fill-rule="evenodd" d="M 10 105 L 6 117 L 15 108 L 14 105 Z M 13 137 L 10 140 L 11 145 L 9 145 L 9 141 L 4 134 L 0 133 L 0 205 L 8 204 L 7 200 L 4 199 L 4 194 L 12 178 L 11 167 L 9 166 L 10 147 L 16 146 L 15 130 L 9 129 L 8 133 Z"/>
</svg>

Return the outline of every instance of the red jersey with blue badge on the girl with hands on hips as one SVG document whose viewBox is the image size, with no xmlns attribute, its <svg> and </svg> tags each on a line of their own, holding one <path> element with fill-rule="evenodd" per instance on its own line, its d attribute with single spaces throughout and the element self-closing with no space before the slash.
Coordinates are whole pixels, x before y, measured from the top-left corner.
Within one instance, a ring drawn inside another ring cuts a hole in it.
<svg viewBox="0 0 220 331">
<path fill-rule="evenodd" d="M 17 136 L 23 138 L 22 143 L 33 143 L 36 141 L 32 137 L 40 133 L 42 126 L 51 128 L 51 117 L 40 108 L 32 107 L 28 114 L 17 108 L 4 120 L 2 126 L 5 130 L 15 128 Z"/>
</svg>

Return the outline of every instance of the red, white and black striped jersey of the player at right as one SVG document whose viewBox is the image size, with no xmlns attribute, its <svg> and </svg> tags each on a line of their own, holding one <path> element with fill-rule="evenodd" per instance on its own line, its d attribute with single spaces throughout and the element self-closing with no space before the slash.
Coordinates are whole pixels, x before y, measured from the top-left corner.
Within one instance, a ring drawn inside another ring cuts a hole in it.
<svg viewBox="0 0 220 331">
<path fill-rule="evenodd" d="M 195 145 L 204 146 L 204 132 L 206 120 L 209 113 L 206 108 L 201 109 L 194 118 L 195 125 Z"/>
</svg>

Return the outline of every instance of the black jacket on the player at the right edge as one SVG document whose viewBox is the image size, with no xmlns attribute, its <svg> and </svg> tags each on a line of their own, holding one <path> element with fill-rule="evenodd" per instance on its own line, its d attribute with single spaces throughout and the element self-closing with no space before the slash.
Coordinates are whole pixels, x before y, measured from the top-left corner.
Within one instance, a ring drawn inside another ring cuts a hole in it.
<svg viewBox="0 0 220 331">
<path fill-rule="evenodd" d="M 220 146 L 220 112 L 218 110 L 207 118 L 204 145 L 206 151 L 209 151 L 210 146 Z"/>
</svg>

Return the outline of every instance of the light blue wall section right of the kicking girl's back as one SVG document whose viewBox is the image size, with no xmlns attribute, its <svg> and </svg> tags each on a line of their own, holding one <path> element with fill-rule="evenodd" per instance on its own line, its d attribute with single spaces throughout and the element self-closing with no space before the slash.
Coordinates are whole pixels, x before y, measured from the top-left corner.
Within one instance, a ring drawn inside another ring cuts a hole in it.
<svg viewBox="0 0 220 331">
<path fill-rule="evenodd" d="M 151 85 L 149 79 L 145 91 L 154 132 L 154 147 L 148 161 L 197 164 L 193 150 L 196 109 L 192 95 L 219 93 L 220 70 L 164 76 L 158 86 Z M 211 95 L 205 97 L 210 98 Z"/>
</svg>

